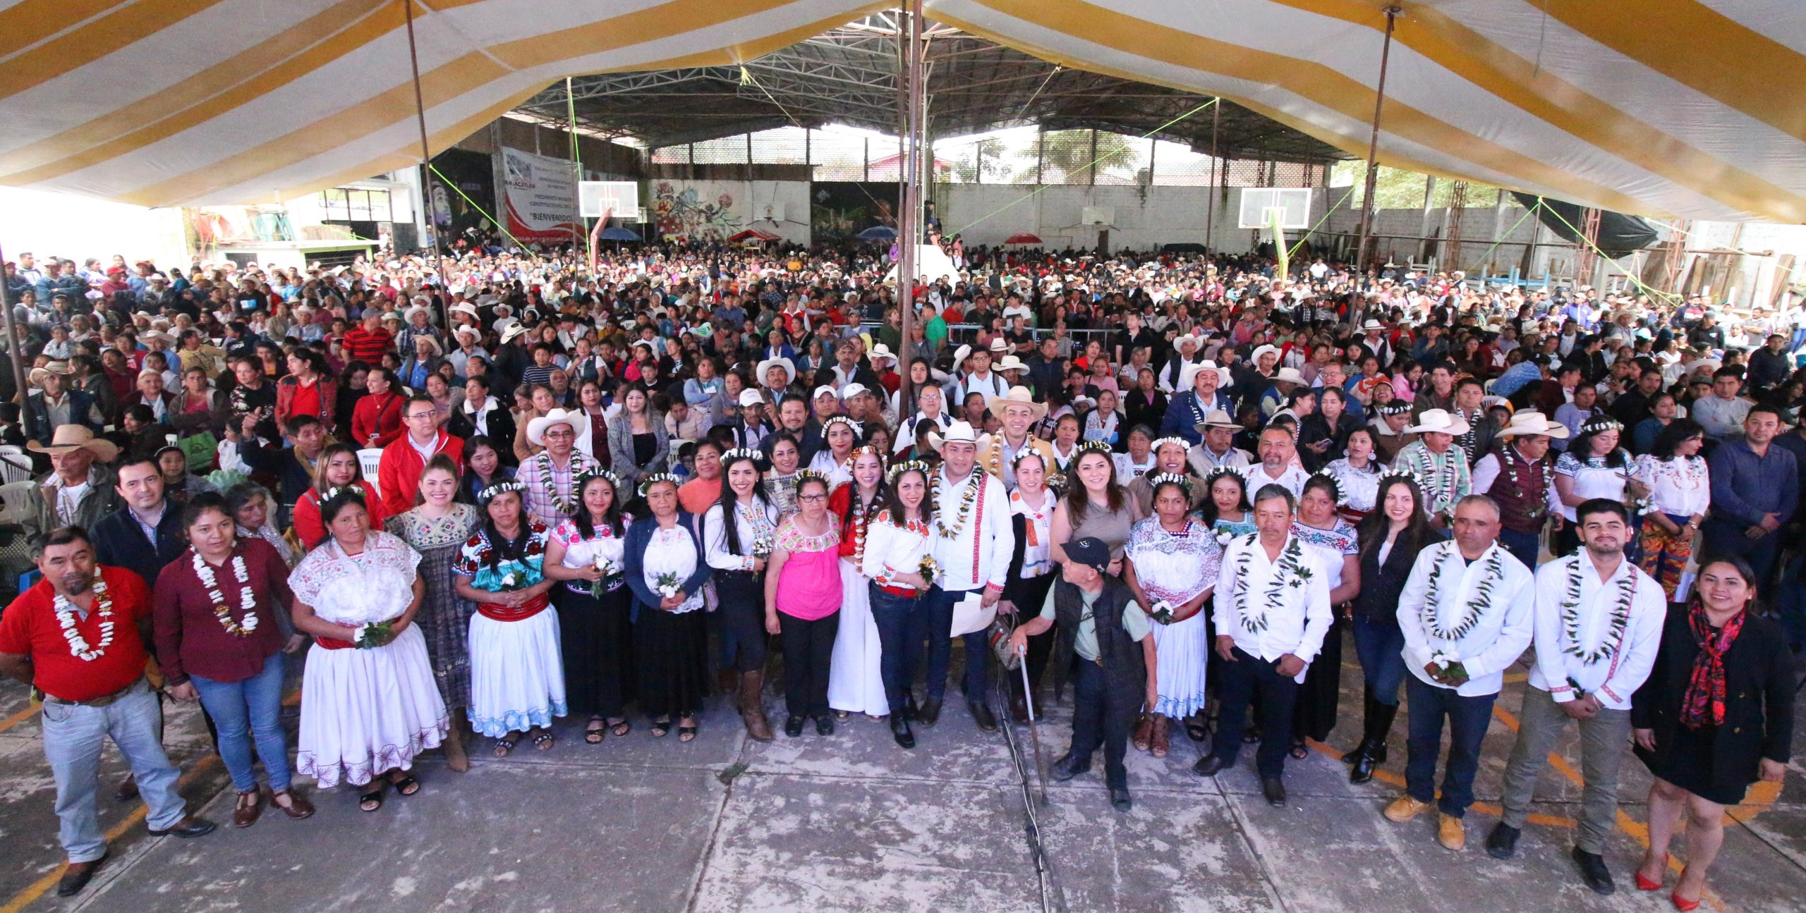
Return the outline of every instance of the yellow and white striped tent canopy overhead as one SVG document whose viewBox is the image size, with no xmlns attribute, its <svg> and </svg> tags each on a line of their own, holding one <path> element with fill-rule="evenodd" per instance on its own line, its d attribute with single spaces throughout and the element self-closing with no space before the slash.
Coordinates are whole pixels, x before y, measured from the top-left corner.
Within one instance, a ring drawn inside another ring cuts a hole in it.
<svg viewBox="0 0 1806 913">
<path fill-rule="evenodd" d="M 0 184 L 289 198 L 419 162 L 406 0 L 0 0 Z M 746 61 L 892 4 L 414 0 L 428 143 L 563 76 Z M 928 0 L 1066 67 L 1364 157 L 1385 0 Z M 1380 161 L 1642 215 L 1806 222 L 1799 0 L 1400 0 Z"/>
</svg>

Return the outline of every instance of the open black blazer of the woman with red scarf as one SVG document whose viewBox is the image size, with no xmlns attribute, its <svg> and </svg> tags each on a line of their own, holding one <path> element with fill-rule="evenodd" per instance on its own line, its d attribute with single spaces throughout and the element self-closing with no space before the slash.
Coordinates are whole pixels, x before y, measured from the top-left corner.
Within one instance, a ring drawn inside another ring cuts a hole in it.
<svg viewBox="0 0 1806 913">
<path fill-rule="evenodd" d="M 1656 664 L 1631 696 L 1631 725 L 1656 731 L 1656 751 L 1674 745 L 1681 696 L 1692 677 L 1699 642 L 1687 624 L 1687 606 L 1669 608 Z M 1793 651 L 1781 626 L 1746 615 L 1737 642 L 1725 653 L 1725 724 L 1714 733 L 1716 787 L 1745 788 L 1759 761 L 1788 763 L 1793 742 Z"/>
</svg>

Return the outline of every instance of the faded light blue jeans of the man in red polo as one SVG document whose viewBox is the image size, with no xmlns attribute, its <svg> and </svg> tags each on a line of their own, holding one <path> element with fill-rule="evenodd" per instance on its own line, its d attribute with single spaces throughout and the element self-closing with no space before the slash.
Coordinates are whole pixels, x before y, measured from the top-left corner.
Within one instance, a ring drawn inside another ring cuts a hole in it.
<svg viewBox="0 0 1806 913">
<path fill-rule="evenodd" d="M 70 862 L 92 862 L 107 855 L 107 837 L 96 817 L 101 751 L 112 738 L 132 765 L 137 792 L 150 812 L 144 823 L 152 830 L 168 830 L 188 814 L 182 798 L 175 794 L 177 770 L 163 752 L 157 695 L 143 678 L 132 691 L 105 707 L 74 707 L 43 704 L 43 758 L 56 776 L 56 817 L 61 823 L 58 837 Z"/>
</svg>

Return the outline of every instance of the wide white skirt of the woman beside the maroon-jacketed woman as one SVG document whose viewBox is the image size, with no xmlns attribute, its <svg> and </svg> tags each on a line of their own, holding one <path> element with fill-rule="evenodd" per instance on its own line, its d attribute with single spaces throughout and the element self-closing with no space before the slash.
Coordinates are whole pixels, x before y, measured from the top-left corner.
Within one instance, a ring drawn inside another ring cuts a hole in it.
<svg viewBox="0 0 1806 913">
<path fill-rule="evenodd" d="M 361 787 L 385 770 L 414 767 L 450 725 L 419 626 L 374 650 L 314 644 L 302 677 L 294 767 L 321 788 Z"/>
</svg>

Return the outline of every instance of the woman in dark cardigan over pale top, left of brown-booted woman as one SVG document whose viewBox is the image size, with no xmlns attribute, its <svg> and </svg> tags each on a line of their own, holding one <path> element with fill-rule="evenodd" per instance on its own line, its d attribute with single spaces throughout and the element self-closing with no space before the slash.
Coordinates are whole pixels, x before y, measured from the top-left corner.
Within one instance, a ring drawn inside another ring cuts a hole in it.
<svg viewBox="0 0 1806 913">
<path fill-rule="evenodd" d="M 668 734 L 675 716 L 677 742 L 692 742 L 708 695 L 708 624 L 701 608 L 710 567 L 694 532 L 695 516 L 677 505 L 677 476 L 647 476 L 639 496 L 650 516 L 627 527 L 623 549 L 634 592 L 639 707 L 652 716 L 654 736 Z"/>
</svg>

